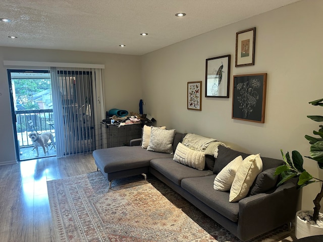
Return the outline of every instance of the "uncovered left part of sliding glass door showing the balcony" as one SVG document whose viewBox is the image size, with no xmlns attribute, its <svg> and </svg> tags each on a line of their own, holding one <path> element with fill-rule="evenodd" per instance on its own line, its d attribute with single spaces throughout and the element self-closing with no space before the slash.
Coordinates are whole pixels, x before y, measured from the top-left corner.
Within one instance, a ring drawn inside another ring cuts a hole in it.
<svg viewBox="0 0 323 242">
<path fill-rule="evenodd" d="M 8 70 L 8 80 L 16 157 L 18 161 L 34 159 L 37 152 L 29 135 L 50 132 L 55 137 L 49 71 Z M 42 147 L 38 150 L 38 157 L 56 156 L 50 141 L 47 152 L 44 153 Z"/>
</svg>

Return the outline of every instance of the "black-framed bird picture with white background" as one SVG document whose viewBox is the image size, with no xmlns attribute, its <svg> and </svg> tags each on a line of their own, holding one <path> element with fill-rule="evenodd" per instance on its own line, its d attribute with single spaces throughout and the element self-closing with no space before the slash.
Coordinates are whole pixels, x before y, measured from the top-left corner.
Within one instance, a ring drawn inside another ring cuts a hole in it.
<svg viewBox="0 0 323 242">
<path fill-rule="evenodd" d="M 205 97 L 229 98 L 231 55 L 206 59 Z"/>
</svg>

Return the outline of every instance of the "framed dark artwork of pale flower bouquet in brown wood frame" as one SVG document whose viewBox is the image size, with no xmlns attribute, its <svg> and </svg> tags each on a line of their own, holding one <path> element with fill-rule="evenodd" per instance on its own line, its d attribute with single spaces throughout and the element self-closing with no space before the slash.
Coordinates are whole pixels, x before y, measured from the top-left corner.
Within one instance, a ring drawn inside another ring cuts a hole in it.
<svg viewBox="0 0 323 242">
<path fill-rule="evenodd" d="M 233 76 L 232 118 L 264 123 L 267 73 Z"/>
</svg>

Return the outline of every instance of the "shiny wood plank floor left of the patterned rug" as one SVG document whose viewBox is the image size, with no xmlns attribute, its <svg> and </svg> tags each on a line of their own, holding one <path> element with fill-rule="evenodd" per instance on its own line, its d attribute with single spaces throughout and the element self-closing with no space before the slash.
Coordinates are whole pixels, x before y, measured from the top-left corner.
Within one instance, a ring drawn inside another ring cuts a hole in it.
<svg viewBox="0 0 323 242">
<path fill-rule="evenodd" d="M 92 154 L 0 166 L 0 241 L 56 241 L 46 181 L 93 171 L 96 165 Z"/>
</svg>

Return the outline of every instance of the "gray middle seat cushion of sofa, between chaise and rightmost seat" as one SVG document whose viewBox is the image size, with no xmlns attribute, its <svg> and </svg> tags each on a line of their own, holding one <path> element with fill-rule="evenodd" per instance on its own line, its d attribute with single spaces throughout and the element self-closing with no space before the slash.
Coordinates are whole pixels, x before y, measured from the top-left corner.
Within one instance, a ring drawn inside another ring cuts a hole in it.
<svg viewBox="0 0 323 242">
<path fill-rule="evenodd" d="M 181 180 L 187 177 L 207 176 L 213 174 L 210 170 L 197 170 L 189 166 L 180 164 L 172 158 L 152 159 L 150 167 L 163 174 L 177 185 L 181 185 Z"/>
</svg>

